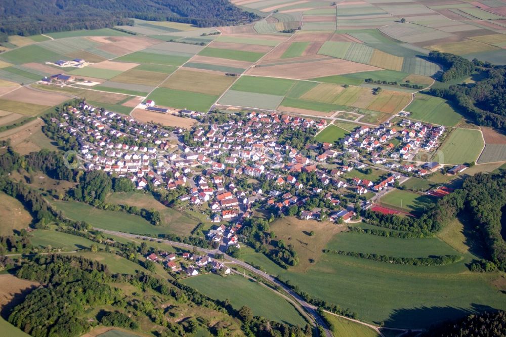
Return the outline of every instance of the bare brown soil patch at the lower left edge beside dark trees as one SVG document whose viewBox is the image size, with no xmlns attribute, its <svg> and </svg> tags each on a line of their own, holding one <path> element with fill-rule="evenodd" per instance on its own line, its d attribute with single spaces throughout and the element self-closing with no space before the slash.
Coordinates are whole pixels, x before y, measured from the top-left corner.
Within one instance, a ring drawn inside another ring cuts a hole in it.
<svg viewBox="0 0 506 337">
<path fill-rule="evenodd" d="M 40 283 L 23 280 L 11 274 L 0 275 L 0 308 L 12 309 L 20 304 L 22 293 L 38 287 Z"/>
</svg>

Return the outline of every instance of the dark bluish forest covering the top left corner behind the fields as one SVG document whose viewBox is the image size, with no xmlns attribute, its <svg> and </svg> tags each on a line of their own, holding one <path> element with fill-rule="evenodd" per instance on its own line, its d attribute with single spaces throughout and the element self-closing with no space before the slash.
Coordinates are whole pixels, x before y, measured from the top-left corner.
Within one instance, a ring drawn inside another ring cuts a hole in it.
<svg viewBox="0 0 506 337">
<path fill-rule="evenodd" d="M 5 0 L 0 7 L 0 42 L 8 35 L 133 25 L 131 18 L 175 21 L 198 27 L 234 25 L 258 19 L 227 0 Z"/>
</svg>

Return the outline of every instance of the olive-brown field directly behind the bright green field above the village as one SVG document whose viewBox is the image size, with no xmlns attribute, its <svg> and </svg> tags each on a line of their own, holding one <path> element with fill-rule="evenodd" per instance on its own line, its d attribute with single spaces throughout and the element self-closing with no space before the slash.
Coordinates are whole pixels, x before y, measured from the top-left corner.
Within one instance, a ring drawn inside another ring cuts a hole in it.
<svg viewBox="0 0 506 337">
<path fill-rule="evenodd" d="M 163 82 L 161 87 L 208 95 L 221 95 L 235 79 L 236 77 L 219 73 L 179 69 Z"/>
</svg>

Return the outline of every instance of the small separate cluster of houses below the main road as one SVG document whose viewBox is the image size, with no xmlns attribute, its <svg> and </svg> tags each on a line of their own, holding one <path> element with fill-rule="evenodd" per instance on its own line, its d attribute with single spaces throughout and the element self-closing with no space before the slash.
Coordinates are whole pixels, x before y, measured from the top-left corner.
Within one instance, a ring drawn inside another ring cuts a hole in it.
<svg viewBox="0 0 506 337">
<path fill-rule="evenodd" d="M 202 270 L 216 273 L 230 274 L 231 269 L 218 260 L 207 255 L 196 255 L 183 252 L 179 255 L 167 251 L 151 252 L 146 255 L 146 260 L 161 263 L 168 271 L 180 273 L 184 271 L 188 276 L 198 275 Z"/>
</svg>

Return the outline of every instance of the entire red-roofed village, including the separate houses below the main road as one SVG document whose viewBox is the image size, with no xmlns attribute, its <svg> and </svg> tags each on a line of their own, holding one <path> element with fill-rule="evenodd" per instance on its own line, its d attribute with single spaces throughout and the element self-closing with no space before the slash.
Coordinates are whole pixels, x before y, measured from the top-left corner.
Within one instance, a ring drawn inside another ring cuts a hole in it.
<svg viewBox="0 0 506 337">
<path fill-rule="evenodd" d="M 144 104 L 156 108 L 154 102 Z M 236 114 L 221 124 L 197 124 L 190 132 L 141 123 L 86 102 L 68 107 L 61 116 L 52 122 L 75 138 L 86 170 L 129 178 L 138 190 L 173 191 L 179 206 L 193 207 L 216 223 L 206 238 L 222 252 L 230 246 L 240 248 L 242 222 L 259 210 L 302 220 L 360 222 L 361 209 L 373 207 L 409 177 L 442 167 L 410 159 L 418 151 L 437 147 L 444 127 L 409 120 L 377 128 L 364 125 L 331 144 L 297 142 L 301 137 L 314 139 L 327 126 L 326 120 L 276 113 Z M 381 172 L 377 180 L 357 177 L 371 167 Z M 456 165 L 448 174 L 466 168 Z M 192 262 L 185 264 L 176 264 L 173 258 L 162 252 L 148 255 L 170 272 L 184 268 L 188 276 L 207 264 L 222 268 L 206 256 L 183 256 Z"/>
</svg>

